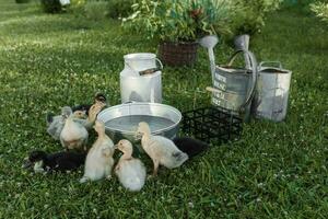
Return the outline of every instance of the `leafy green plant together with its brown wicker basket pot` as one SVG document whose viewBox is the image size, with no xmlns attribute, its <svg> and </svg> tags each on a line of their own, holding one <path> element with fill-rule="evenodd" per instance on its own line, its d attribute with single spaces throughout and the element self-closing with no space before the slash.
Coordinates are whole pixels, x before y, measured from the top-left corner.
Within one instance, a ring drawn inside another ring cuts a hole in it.
<svg viewBox="0 0 328 219">
<path fill-rule="evenodd" d="M 227 31 L 230 1 L 143 0 L 132 5 L 124 26 L 159 42 L 159 57 L 169 66 L 192 65 L 197 39 Z"/>
</svg>

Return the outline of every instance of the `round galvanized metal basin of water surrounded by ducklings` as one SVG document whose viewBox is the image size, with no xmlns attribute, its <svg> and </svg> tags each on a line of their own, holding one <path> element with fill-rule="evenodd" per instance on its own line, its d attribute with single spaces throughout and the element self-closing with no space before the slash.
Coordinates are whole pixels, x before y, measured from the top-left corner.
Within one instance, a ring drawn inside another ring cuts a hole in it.
<svg viewBox="0 0 328 219">
<path fill-rule="evenodd" d="M 179 129 L 181 113 L 165 104 L 126 103 L 102 111 L 97 119 L 105 123 L 106 134 L 116 143 L 120 139 L 137 142 L 136 131 L 140 122 L 150 125 L 152 135 L 173 139 Z"/>
</svg>

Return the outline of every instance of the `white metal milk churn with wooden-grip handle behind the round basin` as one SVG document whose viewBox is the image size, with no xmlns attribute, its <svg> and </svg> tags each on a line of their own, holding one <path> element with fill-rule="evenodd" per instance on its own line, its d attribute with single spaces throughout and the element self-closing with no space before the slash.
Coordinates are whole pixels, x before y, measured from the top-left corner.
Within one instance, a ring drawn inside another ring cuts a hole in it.
<svg viewBox="0 0 328 219">
<path fill-rule="evenodd" d="M 124 56 L 120 72 L 121 103 L 162 103 L 162 62 L 155 54 L 139 53 Z M 157 64 L 160 67 L 157 67 Z"/>
</svg>

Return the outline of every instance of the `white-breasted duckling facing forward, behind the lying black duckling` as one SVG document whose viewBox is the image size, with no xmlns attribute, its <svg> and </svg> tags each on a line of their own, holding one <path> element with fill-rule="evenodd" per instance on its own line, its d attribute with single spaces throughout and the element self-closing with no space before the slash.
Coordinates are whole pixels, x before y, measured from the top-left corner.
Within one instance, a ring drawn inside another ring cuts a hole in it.
<svg viewBox="0 0 328 219">
<path fill-rule="evenodd" d="M 68 107 L 68 106 L 67 106 Z M 66 115 L 63 128 L 60 132 L 60 142 L 66 149 L 81 149 L 86 150 L 87 130 L 83 124 L 77 122 L 75 114 Z"/>
</svg>

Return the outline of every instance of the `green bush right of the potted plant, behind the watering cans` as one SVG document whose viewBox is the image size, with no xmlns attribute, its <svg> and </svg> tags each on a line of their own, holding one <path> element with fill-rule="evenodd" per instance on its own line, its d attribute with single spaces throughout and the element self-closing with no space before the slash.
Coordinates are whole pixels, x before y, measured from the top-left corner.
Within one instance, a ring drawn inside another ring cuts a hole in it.
<svg viewBox="0 0 328 219">
<path fill-rule="evenodd" d="M 254 34 L 265 25 L 267 14 L 279 8 L 282 0 L 235 0 L 234 33 Z"/>
</svg>

